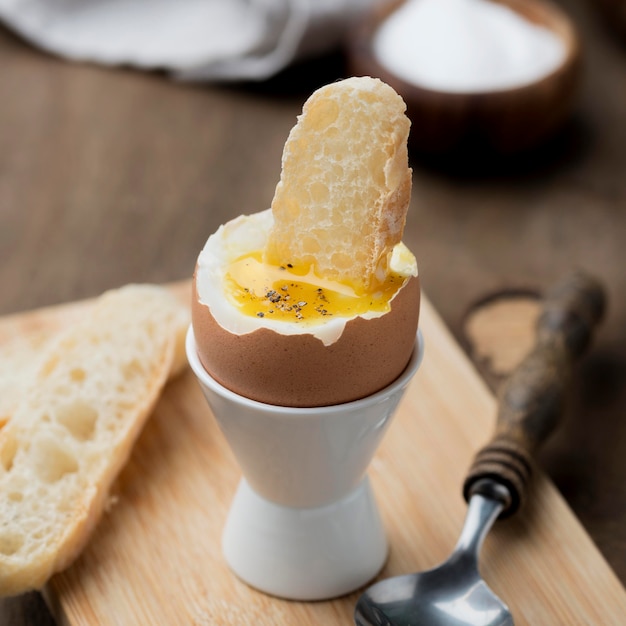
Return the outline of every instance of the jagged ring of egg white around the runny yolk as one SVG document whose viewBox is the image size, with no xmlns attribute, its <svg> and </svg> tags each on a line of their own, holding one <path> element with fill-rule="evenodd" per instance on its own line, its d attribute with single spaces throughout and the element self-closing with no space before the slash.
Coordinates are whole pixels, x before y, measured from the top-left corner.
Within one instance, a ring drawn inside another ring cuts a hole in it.
<svg viewBox="0 0 626 626">
<path fill-rule="evenodd" d="M 385 314 L 385 311 L 368 311 L 361 315 L 323 318 L 318 324 L 302 324 L 288 320 L 253 317 L 239 310 L 228 298 L 225 277 L 229 265 L 245 254 L 265 249 L 268 234 L 273 225 L 271 209 L 241 215 L 223 224 L 209 237 L 198 257 L 196 267 L 196 290 L 201 304 L 209 307 L 215 321 L 228 332 L 245 335 L 260 328 L 268 328 L 283 335 L 310 334 L 324 345 L 333 344 L 341 337 L 346 324 L 356 317 L 373 319 Z M 390 258 L 390 268 L 404 277 L 417 276 L 417 262 L 408 248 L 398 244 Z M 320 286 L 334 286 L 337 283 L 316 281 Z M 395 296 L 401 291 L 398 290 Z M 393 300 L 393 298 L 392 298 Z"/>
</svg>

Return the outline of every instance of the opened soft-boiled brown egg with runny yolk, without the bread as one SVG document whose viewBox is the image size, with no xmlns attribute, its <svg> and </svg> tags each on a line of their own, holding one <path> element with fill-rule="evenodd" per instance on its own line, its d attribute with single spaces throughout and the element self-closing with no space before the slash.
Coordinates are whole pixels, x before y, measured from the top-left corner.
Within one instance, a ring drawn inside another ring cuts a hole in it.
<svg viewBox="0 0 626 626">
<path fill-rule="evenodd" d="M 198 257 L 192 322 L 207 372 L 242 396 L 292 407 L 349 402 L 393 382 L 417 333 L 413 254 L 397 244 L 384 281 L 357 293 L 311 269 L 266 263 L 272 224 L 269 209 L 240 216 Z"/>
</svg>

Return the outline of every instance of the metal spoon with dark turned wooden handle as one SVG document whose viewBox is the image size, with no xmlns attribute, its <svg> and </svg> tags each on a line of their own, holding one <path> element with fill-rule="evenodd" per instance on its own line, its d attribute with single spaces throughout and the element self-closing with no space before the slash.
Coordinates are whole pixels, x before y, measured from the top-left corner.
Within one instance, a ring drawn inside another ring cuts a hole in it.
<svg viewBox="0 0 626 626">
<path fill-rule="evenodd" d="M 451 556 L 434 569 L 366 589 L 354 612 L 357 626 L 513 625 L 506 604 L 481 578 L 478 555 L 496 518 L 522 506 L 532 455 L 558 422 L 573 365 L 586 351 L 604 308 L 602 287 L 581 272 L 546 294 L 535 346 L 503 385 L 495 433 L 465 479 L 469 505 Z"/>
</svg>

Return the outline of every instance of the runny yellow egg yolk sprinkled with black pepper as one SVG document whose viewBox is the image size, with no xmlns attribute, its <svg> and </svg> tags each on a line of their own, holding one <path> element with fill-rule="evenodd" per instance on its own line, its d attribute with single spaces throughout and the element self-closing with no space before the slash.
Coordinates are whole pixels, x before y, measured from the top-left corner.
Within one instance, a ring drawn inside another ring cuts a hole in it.
<svg viewBox="0 0 626 626">
<path fill-rule="evenodd" d="M 389 311 L 407 278 L 391 273 L 374 291 L 357 295 L 350 285 L 321 279 L 309 268 L 269 265 L 254 252 L 229 265 L 225 285 L 231 302 L 246 315 L 318 324 L 329 316 Z"/>
</svg>

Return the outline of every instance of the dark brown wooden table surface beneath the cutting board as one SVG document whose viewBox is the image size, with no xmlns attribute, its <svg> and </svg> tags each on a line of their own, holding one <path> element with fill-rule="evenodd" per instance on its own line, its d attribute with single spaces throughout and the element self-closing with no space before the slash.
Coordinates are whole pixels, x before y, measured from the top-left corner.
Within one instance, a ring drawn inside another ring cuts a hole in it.
<svg viewBox="0 0 626 626">
<path fill-rule="evenodd" d="M 607 319 L 540 462 L 626 583 L 626 48 L 583 0 L 577 110 L 560 142 L 507 171 L 414 163 L 406 240 L 423 286 L 471 351 L 465 316 L 573 267 L 603 280 Z M 0 31 L 0 314 L 189 277 L 208 234 L 269 206 L 303 100 L 343 75 L 331 56 L 260 86 L 192 86 L 68 64 Z M 478 363 L 491 384 L 488 364 Z M 52 624 L 38 594 L 0 623 Z"/>
</svg>

